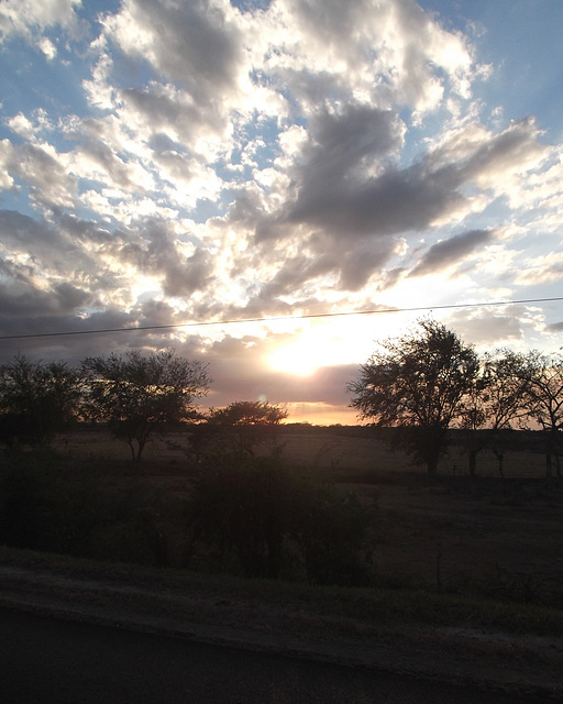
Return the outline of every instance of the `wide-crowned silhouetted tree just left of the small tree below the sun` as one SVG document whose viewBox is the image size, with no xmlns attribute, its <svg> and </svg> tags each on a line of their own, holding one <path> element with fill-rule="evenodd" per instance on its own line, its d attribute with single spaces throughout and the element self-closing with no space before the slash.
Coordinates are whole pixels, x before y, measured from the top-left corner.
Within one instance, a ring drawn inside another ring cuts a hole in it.
<svg viewBox="0 0 563 704">
<path fill-rule="evenodd" d="M 206 365 L 177 358 L 174 350 L 87 358 L 82 369 L 92 417 L 109 424 L 135 462 L 166 424 L 194 415 L 194 399 L 205 396 L 211 383 Z"/>
</svg>

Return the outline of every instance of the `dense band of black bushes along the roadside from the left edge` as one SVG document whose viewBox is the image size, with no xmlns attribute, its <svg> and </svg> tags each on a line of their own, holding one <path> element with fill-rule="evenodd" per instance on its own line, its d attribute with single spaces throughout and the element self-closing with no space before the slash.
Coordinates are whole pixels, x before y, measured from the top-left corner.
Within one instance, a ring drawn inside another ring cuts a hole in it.
<svg viewBox="0 0 563 704">
<path fill-rule="evenodd" d="M 85 474 L 53 452 L 1 460 L 0 544 L 316 584 L 369 579 L 369 512 L 274 458 L 224 454 L 180 483 Z"/>
</svg>

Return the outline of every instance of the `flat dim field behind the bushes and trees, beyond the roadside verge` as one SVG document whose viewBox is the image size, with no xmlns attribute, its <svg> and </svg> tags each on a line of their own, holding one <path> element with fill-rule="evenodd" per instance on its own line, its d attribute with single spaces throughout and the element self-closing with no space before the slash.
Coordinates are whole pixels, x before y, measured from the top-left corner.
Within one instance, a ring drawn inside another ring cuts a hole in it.
<svg viewBox="0 0 563 704">
<path fill-rule="evenodd" d="M 341 431 L 342 432 L 342 431 Z M 457 448 L 428 477 L 376 438 L 338 432 L 286 433 L 283 459 L 316 479 L 357 494 L 375 510 L 375 583 L 479 597 L 563 604 L 563 484 L 545 484 L 541 452 L 507 451 L 505 479 L 493 454 L 475 479 Z M 170 435 L 146 448 L 141 468 L 104 433 L 80 432 L 59 449 L 86 469 L 114 465 L 134 486 L 185 486 L 186 438 Z"/>
</svg>

